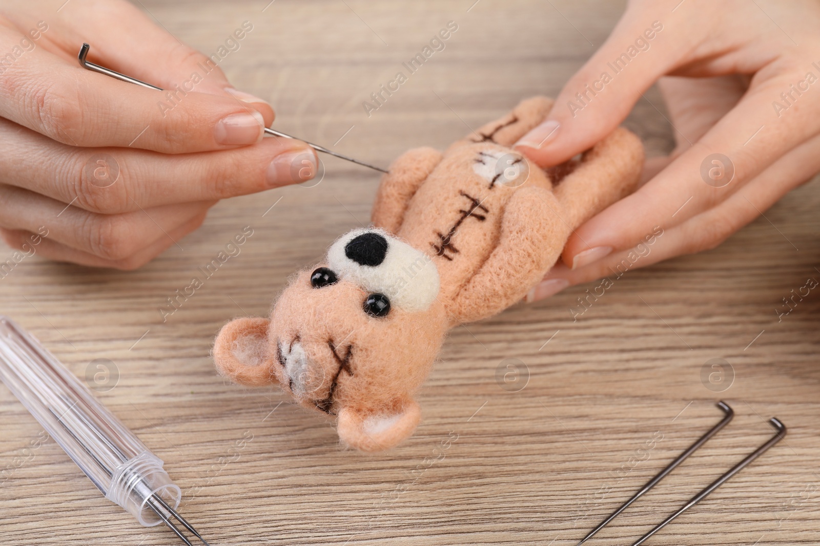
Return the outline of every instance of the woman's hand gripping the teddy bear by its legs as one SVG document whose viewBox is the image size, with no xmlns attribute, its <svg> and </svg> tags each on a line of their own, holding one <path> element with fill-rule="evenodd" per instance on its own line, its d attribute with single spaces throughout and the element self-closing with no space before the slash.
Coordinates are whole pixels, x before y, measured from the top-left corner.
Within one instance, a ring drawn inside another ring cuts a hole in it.
<svg viewBox="0 0 820 546">
<path fill-rule="evenodd" d="M 676 3 L 630 2 L 548 120 L 517 142 L 557 165 L 615 129 L 658 79 L 677 142 L 647 161 L 649 182 L 573 232 L 527 300 L 714 248 L 820 170 L 820 3 Z"/>
</svg>

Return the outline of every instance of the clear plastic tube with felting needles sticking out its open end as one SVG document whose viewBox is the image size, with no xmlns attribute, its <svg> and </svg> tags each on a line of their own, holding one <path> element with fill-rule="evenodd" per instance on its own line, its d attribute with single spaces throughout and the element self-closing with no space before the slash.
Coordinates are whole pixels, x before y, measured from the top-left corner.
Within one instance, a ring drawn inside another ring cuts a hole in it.
<svg viewBox="0 0 820 546">
<path fill-rule="evenodd" d="M 0 316 L 0 380 L 60 444 L 106 499 L 146 527 L 165 523 L 188 546 L 176 512 L 182 492 L 133 432 L 125 428 L 39 341 Z"/>
</svg>

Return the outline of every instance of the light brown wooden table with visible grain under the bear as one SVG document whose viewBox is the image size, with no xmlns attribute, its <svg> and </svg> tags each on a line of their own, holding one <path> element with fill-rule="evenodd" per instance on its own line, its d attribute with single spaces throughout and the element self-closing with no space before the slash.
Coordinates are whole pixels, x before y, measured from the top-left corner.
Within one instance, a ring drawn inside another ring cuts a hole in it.
<svg viewBox="0 0 820 546">
<path fill-rule="evenodd" d="M 387 165 L 408 147 L 445 147 L 522 97 L 554 96 L 622 11 L 473 1 L 144 8 L 209 53 L 251 21 L 222 62 L 236 86 L 269 99 L 280 130 Z M 368 117 L 362 102 L 449 20 L 458 31 L 444 51 Z M 626 125 L 658 155 L 672 133 L 657 90 L 647 98 Z M 576 544 L 717 422 L 721 398 L 734 422 L 594 544 L 631 544 L 768 438 L 772 416 L 786 440 L 651 544 L 818 544 L 820 296 L 781 322 L 775 311 L 820 278 L 817 181 L 715 250 L 627 273 L 576 322 L 569 308 L 588 287 L 455 329 L 421 392 L 416 435 L 367 456 L 339 449 L 329 423 L 279 390 L 226 385 L 209 356 L 223 323 L 266 314 L 289 273 L 367 223 L 376 173 L 322 159 L 321 183 L 221 202 L 139 271 L 32 258 L 0 280 L 2 313 L 79 377 L 112 362 L 108 382 L 92 383 L 98 397 L 166 461 L 180 511 L 212 544 Z M 166 298 L 245 226 L 241 254 L 163 322 Z M 508 390 L 496 379 L 505 359 L 523 363 Z M 710 359 L 731 366 L 728 390 L 701 380 Z M 0 469 L 13 468 L 0 485 L 3 544 L 176 544 L 103 499 L 53 440 L 25 451 L 41 429 L 5 387 L 0 416 Z"/>
</svg>

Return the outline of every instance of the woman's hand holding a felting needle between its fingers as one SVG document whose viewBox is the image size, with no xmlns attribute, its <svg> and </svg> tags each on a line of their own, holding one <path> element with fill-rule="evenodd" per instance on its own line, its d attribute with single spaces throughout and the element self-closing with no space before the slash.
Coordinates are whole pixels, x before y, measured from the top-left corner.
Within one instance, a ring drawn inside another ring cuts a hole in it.
<svg viewBox="0 0 820 546">
<path fill-rule="evenodd" d="M 214 50 L 235 51 L 252 29 Z M 167 91 L 81 68 L 84 42 L 89 61 Z M 307 144 L 262 140 L 273 119 L 212 58 L 128 2 L 2 7 L 2 237 L 23 250 L 36 240 L 52 259 L 137 268 L 198 228 L 216 201 L 312 178 Z"/>
</svg>

